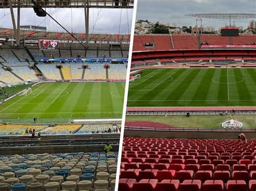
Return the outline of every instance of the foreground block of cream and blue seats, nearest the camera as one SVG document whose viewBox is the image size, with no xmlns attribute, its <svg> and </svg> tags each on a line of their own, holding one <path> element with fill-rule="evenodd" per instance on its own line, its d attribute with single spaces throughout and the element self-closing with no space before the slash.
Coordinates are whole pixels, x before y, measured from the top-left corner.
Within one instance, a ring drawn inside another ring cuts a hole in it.
<svg viewBox="0 0 256 191">
<path fill-rule="evenodd" d="M 118 153 L 72 152 L 0 156 L 1 190 L 114 188 Z"/>
</svg>

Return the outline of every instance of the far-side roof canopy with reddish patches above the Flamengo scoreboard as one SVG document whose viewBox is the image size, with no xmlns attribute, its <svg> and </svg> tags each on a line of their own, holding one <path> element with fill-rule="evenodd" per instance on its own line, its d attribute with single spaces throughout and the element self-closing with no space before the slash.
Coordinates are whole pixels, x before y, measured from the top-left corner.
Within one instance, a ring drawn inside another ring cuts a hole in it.
<svg viewBox="0 0 256 191">
<path fill-rule="evenodd" d="M 30 31 L 20 30 L 20 39 L 54 39 L 54 40 L 74 40 L 69 33 L 66 32 L 45 32 L 45 31 Z M 73 33 L 78 40 L 85 40 L 85 33 Z M 13 38 L 15 33 L 13 29 L 0 28 L 0 38 Z M 128 34 L 89 34 L 90 41 L 130 41 Z"/>
</svg>

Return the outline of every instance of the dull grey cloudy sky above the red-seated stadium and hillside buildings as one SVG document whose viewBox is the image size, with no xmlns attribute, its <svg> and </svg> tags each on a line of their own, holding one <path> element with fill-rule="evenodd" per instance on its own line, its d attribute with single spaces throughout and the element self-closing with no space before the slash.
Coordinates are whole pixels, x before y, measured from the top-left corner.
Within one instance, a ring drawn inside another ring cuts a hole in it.
<svg viewBox="0 0 256 191">
<path fill-rule="evenodd" d="M 186 17 L 190 13 L 256 13 L 255 0 L 138 0 L 137 19 L 153 22 L 195 26 L 196 18 Z M 247 27 L 252 19 L 236 19 L 235 25 Z M 256 18 L 254 19 L 256 20 Z M 203 26 L 218 29 L 227 19 L 203 18 Z M 233 23 L 232 23 L 233 24 Z"/>
</svg>

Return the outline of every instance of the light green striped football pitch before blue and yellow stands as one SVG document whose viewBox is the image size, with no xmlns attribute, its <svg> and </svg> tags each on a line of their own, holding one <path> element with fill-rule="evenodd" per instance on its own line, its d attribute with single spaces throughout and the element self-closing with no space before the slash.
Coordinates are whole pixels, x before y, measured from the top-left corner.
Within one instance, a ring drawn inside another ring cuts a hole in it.
<svg viewBox="0 0 256 191">
<path fill-rule="evenodd" d="M 5 122 L 68 123 L 73 119 L 122 118 L 123 82 L 51 82 L 0 105 Z"/>
</svg>

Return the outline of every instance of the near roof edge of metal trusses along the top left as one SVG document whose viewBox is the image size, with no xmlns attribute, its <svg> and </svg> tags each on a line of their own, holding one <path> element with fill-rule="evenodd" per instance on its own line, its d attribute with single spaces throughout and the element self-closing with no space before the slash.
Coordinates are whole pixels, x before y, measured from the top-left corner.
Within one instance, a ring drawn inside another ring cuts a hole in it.
<svg viewBox="0 0 256 191">
<path fill-rule="evenodd" d="M 13 8 L 32 8 L 31 0 L 9 0 Z M 10 8 L 9 1 L 0 0 L 1 8 Z M 37 4 L 45 8 L 133 8 L 134 1 L 120 0 L 36 0 Z M 86 3 L 87 2 L 87 3 Z"/>
</svg>

